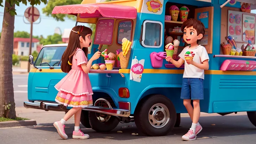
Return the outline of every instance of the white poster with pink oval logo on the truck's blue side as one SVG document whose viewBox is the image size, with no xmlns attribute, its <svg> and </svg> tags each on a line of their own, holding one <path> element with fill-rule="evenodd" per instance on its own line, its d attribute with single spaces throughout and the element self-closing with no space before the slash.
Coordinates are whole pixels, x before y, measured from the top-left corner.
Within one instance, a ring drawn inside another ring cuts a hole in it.
<svg viewBox="0 0 256 144">
<path fill-rule="evenodd" d="M 137 57 L 131 61 L 130 80 L 141 82 L 142 73 L 144 70 L 145 59 L 138 60 Z"/>
</svg>

